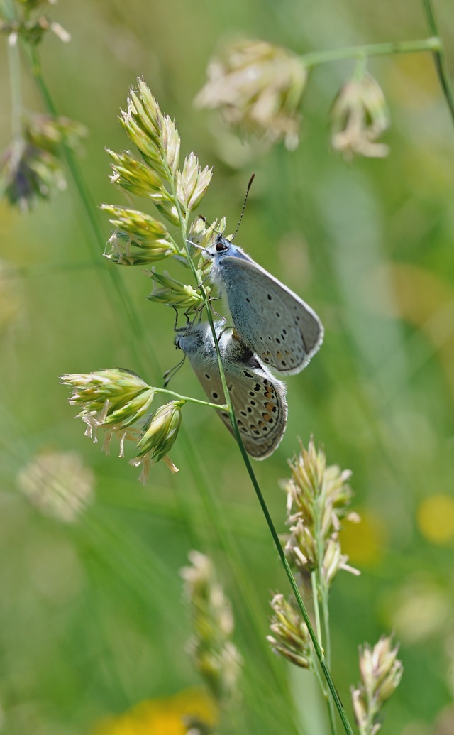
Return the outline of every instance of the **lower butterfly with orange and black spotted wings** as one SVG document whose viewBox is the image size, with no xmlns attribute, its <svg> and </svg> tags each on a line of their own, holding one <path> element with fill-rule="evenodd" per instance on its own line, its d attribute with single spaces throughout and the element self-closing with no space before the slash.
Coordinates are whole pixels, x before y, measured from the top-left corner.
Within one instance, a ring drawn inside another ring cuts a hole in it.
<svg viewBox="0 0 454 735">
<path fill-rule="evenodd" d="M 224 322 L 215 323 L 228 392 L 246 451 L 265 459 L 275 451 L 287 424 L 286 388 L 259 362 L 251 349 Z M 190 360 L 209 400 L 224 404 L 215 340 L 208 322 L 187 327 L 175 340 Z M 233 434 L 228 412 L 219 415 Z"/>
</svg>

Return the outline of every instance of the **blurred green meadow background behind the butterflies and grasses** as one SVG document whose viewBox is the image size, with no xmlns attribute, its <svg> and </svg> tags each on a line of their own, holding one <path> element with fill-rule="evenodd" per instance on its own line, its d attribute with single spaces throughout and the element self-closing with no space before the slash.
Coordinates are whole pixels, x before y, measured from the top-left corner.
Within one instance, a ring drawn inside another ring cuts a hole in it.
<svg viewBox="0 0 454 735">
<path fill-rule="evenodd" d="M 453 4 L 439 0 L 436 10 L 454 70 Z M 209 221 L 225 215 L 228 232 L 234 229 L 256 173 L 237 242 L 316 309 L 325 343 L 289 378 L 287 433 L 254 468 L 279 531 L 285 498 L 278 483 L 298 437 L 307 444 L 313 433 L 328 463 L 353 470 L 354 509 L 364 520 L 345 529 L 345 551 L 361 577 L 342 573 L 334 584 L 334 681 L 351 714 L 358 645 L 394 630 L 405 673 L 383 733 L 435 732 L 442 711 L 449 720 L 454 692 L 454 127 L 433 60 L 412 54 L 370 62 L 392 114 L 391 153 L 383 160 L 347 165 L 329 147 L 328 112 L 353 62 L 311 73 L 294 152 L 276 146 L 256 155 L 216 113 L 192 107 L 209 57 L 231 37 L 259 37 L 298 53 L 421 38 L 429 35 L 422 4 L 78 0 L 60 2 L 51 14 L 72 40 L 46 37 L 43 72 L 60 113 L 89 129 L 80 164 L 96 204 L 125 203 L 109 183 L 104 148 L 127 146 L 117 117 L 137 75 L 175 116 L 184 154 L 196 151 L 201 165 L 214 165 L 201 207 Z M 0 54 L 5 148 L 6 38 Z M 26 65 L 22 82 L 26 107 L 43 110 Z M 212 554 L 234 603 L 246 731 L 327 732 L 309 674 L 280 661 L 273 672 L 258 642 L 270 594 L 287 592 L 287 581 L 220 420 L 186 406 L 185 436 L 172 452 L 179 475 L 158 465 L 142 487 L 115 447 L 106 457 L 83 436 L 68 390 L 58 385 L 61 373 L 111 366 L 161 384 L 177 359 L 173 312 L 145 301 L 151 282 L 140 268 L 118 268 L 156 354 L 145 374 L 140 362 L 147 365 L 148 351 L 131 334 L 107 273 L 115 266 L 93 245 L 71 181 L 27 215 L 0 208 L 3 731 L 89 733 L 104 715 L 198 684 L 184 650 L 190 625 L 179 578 L 196 546 Z M 100 221 L 107 240 L 107 219 Z M 24 268 L 21 277 L 11 272 L 15 266 Z M 203 398 L 188 364 L 172 387 Z M 18 490 L 18 472 L 46 450 L 76 451 L 95 473 L 95 501 L 78 523 L 46 517 Z M 229 545 L 239 550 L 255 622 Z M 284 678 L 295 716 L 279 692 Z M 452 712 L 446 732 L 454 732 Z"/>
</svg>

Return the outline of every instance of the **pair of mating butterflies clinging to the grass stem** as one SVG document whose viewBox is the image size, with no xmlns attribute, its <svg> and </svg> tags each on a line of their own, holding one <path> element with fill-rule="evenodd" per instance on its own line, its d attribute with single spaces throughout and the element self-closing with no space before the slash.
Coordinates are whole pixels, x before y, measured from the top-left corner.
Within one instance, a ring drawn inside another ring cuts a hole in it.
<svg viewBox="0 0 454 735">
<path fill-rule="evenodd" d="M 323 326 L 310 306 L 222 235 L 206 254 L 210 276 L 225 293 L 235 332 L 215 330 L 228 391 L 245 448 L 256 459 L 275 451 L 287 423 L 285 385 L 267 366 L 292 375 L 306 367 L 323 342 Z M 223 403 L 215 341 L 208 323 L 176 337 L 210 401 Z M 230 431 L 228 414 L 220 417 Z"/>
</svg>

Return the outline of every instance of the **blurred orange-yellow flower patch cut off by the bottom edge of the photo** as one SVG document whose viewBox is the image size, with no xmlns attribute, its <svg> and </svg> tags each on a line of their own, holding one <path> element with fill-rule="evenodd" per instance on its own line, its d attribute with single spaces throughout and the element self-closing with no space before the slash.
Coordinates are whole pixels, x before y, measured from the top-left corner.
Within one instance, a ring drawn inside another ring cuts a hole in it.
<svg viewBox="0 0 454 735">
<path fill-rule="evenodd" d="M 215 704 L 201 689 L 184 689 L 165 698 L 145 700 L 123 714 L 105 717 L 93 735 L 185 735 L 184 718 L 215 725 Z"/>
</svg>

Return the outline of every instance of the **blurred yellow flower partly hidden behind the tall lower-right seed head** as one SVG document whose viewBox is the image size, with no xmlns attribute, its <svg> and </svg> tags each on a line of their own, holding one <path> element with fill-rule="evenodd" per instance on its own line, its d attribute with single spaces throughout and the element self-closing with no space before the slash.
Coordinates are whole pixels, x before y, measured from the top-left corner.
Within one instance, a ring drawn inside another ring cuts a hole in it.
<svg viewBox="0 0 454 735">
<path fill-rule="evenodd" d="M 377 515 L 358 509 L 361 523 L 342 521 L 339 540 L 350 562 L 359 566 L 378 564 L 386 545 L 386 526 Z"/>
</svg>

